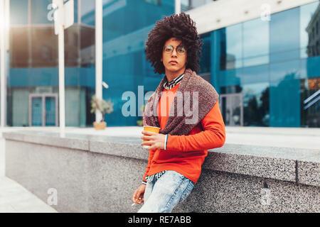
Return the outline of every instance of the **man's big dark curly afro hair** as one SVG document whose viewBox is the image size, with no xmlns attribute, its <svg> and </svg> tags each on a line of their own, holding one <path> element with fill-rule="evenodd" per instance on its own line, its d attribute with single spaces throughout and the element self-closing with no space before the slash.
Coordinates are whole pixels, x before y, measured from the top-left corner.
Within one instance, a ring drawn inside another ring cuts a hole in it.
<svg viewBox="0 0 320 227">
<path fill-rule="evenodd" d="M 170 38 L 181 41 L 187 50 L 186 69 L 195 72 L 199 71 L 201 46 L 203 39 L 200 39 L 196 29 L 196 23 L 186 13 L 164 16 L 164 19 L 156 22 L 156 26 L 149 32 L 146 41 L 146 60 L 151 62 L 154 72 L 164 74 L 164 64 L 161 62 L 164 43 Z"/>
</svg>

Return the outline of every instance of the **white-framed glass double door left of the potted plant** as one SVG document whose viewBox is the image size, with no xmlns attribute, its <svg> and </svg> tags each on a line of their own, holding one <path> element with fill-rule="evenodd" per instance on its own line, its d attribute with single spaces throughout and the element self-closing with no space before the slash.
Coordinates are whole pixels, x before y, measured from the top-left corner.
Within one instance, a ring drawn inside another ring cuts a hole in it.
<svg viewBox="0 0 320 227">
<path fill-rule="evenodd" d="M 58 94 L 29 95 L 29 126 L 58 126 Z"/>
</svg>

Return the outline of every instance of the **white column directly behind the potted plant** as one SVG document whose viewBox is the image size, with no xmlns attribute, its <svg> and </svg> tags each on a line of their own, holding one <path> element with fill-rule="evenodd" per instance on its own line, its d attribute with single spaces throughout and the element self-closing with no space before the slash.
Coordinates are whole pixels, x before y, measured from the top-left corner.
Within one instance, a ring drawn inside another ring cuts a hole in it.
<svg viewBox="0 0 320 227">
<path fill-rule="evenodd" d="M 95 0 L 95 96 L 102 99 L 102 0 Z M 95 121 L 99 122 L 102 114 L 95 113 Z"/>
</svg>

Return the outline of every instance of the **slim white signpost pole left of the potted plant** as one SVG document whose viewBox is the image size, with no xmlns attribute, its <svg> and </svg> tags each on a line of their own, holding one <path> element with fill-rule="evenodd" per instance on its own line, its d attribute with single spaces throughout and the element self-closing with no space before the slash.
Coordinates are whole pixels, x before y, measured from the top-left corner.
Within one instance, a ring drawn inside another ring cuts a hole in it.
<svg viewBox="0 0 320 227">
<path fill-rule="evenodd" d="M 65 33 L 63 29 L 63 1 L 58 1 L 60 9 L 58 23 L 58 68 L 59 68 L 59 124 L 60 132 L 65 131 Z"/>
</svg>

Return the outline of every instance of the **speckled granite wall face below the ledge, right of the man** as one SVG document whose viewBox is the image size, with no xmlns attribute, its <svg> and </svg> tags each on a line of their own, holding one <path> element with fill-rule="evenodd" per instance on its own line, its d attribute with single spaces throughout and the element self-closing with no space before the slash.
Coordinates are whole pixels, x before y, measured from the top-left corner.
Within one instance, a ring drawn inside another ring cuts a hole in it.
<svg viewBox="0 0 320 227">
<path fill-rule="evenodd" d="M 174 212 L 319 212 L 319 204 L 319 187 L 203 170 L 193 192 Z"/>
</svg>

